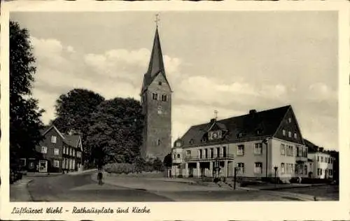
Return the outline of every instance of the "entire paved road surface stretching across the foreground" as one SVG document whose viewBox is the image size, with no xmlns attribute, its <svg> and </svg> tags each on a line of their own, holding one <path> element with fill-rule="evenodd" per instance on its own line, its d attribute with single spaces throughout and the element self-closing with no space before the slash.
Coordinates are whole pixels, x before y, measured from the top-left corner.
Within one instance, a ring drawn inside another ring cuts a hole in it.
<svg viewBox="0 0 350 221">
<path fill-rule="evenodd" d="M 32 201 L 297 201 L 300 197 L 273 191 L 146 191 L 97 185 L 92 173 L 36 177 L 28 185 Z M 151 182 L 151 181 L 150 181 Z M 167 185 L 167 182 L 164 183 Z"/>
</svg>

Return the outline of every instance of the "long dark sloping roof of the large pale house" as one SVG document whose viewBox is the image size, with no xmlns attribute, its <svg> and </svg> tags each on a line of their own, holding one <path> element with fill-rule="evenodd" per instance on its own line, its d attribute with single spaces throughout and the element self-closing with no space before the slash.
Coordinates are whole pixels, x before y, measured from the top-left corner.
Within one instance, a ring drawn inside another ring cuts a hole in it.
<svg viewBox="0 0 350 221">
<path fill-rule="evenodd" d="M 279 128 L 281 121 L 283 120 L 283 117 L 286 115 L 290 107 L 291 106 L 288 105 L 218 120 L 216 124 L 220 125 L 221 128 L 226 128 L 228 130 L 228 133 L 223 139 L 207 141 L 206 143 L 240 141 L 251 138 L 274 136 L 276 130 Z M 183 145 L 189 145 L 191 140 L 191 143 L 193 143 L 193 145 L 203 144 L 201 141 L 202 137 L 205 133 L 207 133 L 211 126 L 212 123 L 206 123 L 190 127 L 186 134 L 184 134 L 181 138 Z M 237 136 L 239 134 L 244 134 L 244 136 Z"/>
</svg>

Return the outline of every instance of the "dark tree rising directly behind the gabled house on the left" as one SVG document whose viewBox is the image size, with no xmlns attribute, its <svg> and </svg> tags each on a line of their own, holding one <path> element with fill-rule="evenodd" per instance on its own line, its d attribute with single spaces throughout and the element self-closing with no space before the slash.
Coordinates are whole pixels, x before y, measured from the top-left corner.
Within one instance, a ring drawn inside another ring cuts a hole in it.
<svg viewBox="0 0 350 221">
<path fill-rule="evenodd" d="M 89 143 L 86 142 L 90 118 L 102 101 L 104 97 L 91 90 L 73 89 L 67 94 L 61 94 L 55 104 L 56 118 L 51 124 L 63 133 L 77 131 L 82 136 L 84 159 L 91 154 Z"/>
</svg>

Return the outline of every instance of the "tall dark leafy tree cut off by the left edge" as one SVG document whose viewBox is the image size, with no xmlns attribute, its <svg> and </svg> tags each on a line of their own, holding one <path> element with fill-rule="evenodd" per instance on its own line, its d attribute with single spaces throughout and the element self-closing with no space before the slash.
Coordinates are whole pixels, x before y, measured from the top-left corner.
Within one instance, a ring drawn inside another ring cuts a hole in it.
<svg viewBox="0 0 350 221">
<path fill-rule="evenodd" d="M 29 32 L 10 21 L 10 162 L 29 157 L 41 141 L 43 109 L 31 97 L 36 72 Z"/>
</svg>

